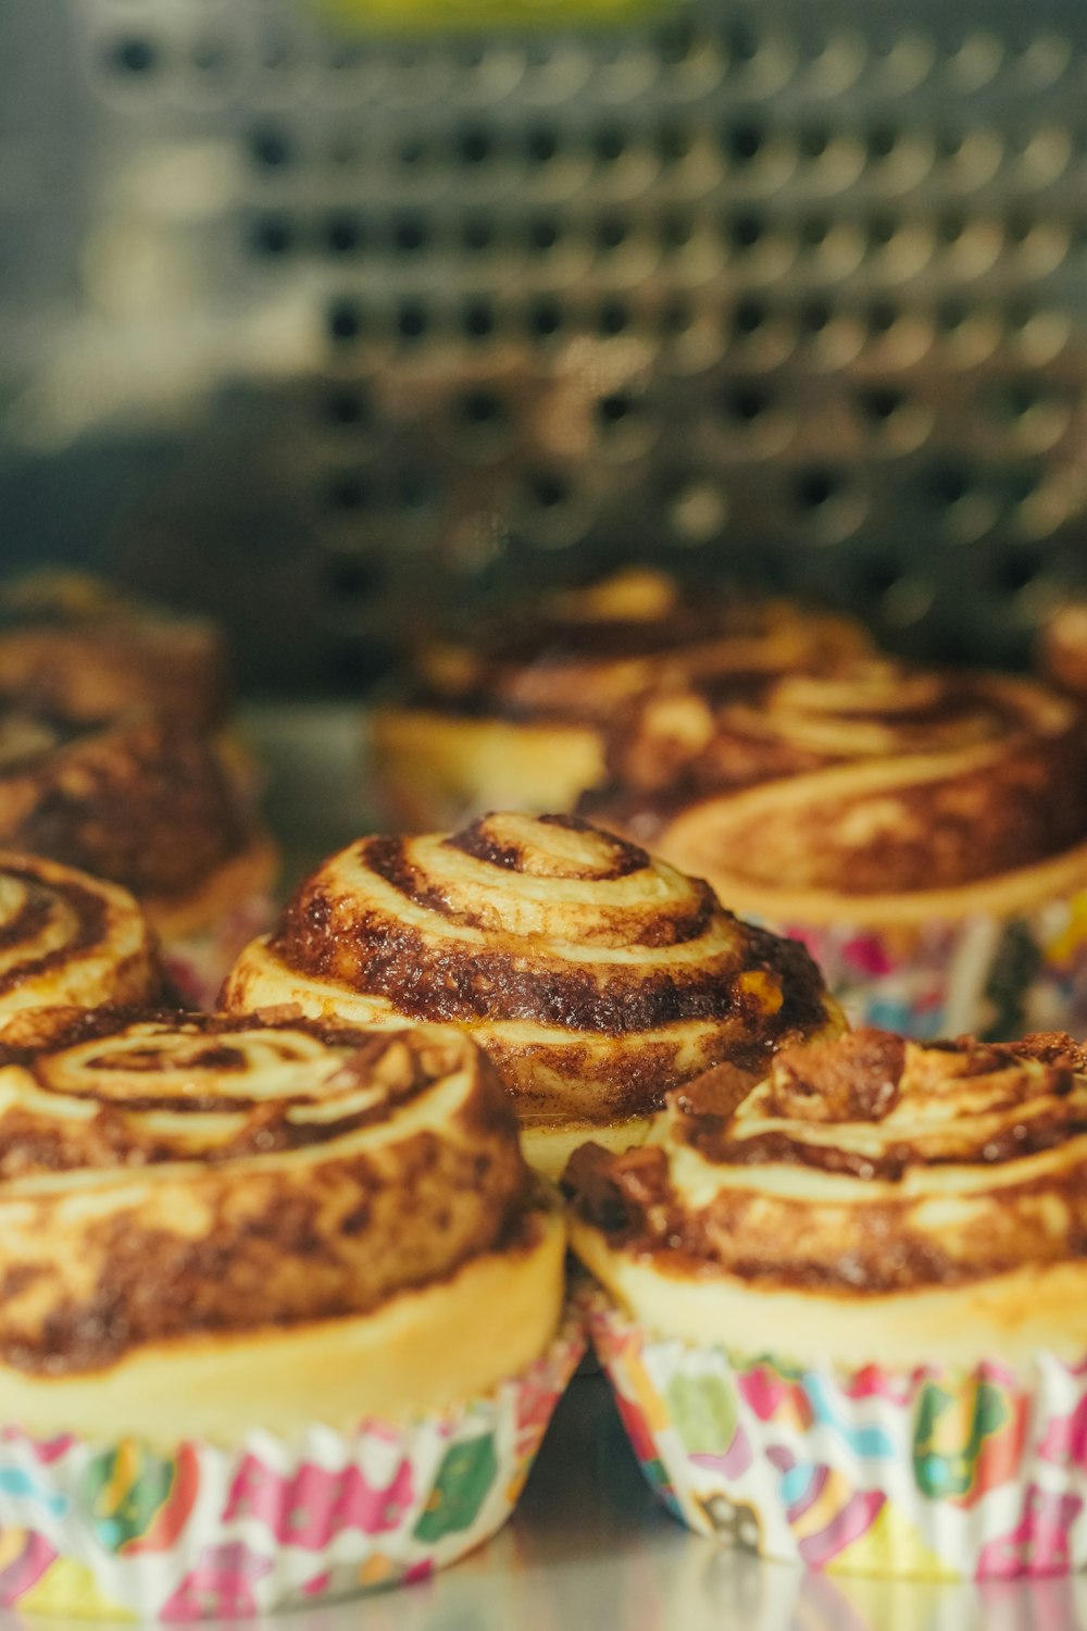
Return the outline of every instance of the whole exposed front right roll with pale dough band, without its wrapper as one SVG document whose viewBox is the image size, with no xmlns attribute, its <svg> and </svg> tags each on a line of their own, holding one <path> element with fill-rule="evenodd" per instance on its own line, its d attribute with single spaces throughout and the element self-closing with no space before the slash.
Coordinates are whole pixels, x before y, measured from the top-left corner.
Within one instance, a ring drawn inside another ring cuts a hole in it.
<svg viewBox="0 0 1087 1631">
<path fill-rule="evenodd" d="M 1082 1350 L 1079 1063 L 1051 1037 L 864 1029 L 782 1052 L 755 1091 L 709 1072 L 645 1148 L 572 1158 L 577 1248 L 676 1334 L 742 1316 L 745 1341 L 854 1362 Z"/>
</svg>

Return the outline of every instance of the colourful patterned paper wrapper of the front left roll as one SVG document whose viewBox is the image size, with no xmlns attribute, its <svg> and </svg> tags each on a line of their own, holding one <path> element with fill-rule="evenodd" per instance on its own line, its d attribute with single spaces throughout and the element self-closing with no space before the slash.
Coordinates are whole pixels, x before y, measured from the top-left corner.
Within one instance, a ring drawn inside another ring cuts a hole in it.
<svg viewBox="0 0 1087 1631">
<path fill-rule="evenodd" d="M 585 1349 L 574 1313 L 489 1395 L 411 1424 L 223 1450 L 0 1432 L 0 1605 L 194 1621 L 420 1580 L 517 1504 Z"/>
</svg>

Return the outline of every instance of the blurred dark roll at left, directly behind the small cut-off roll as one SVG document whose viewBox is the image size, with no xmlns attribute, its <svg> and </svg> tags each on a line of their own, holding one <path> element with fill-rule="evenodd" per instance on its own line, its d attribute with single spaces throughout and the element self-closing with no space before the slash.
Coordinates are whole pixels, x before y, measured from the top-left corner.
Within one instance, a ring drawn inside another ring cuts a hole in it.
<svg viewBox="0 0 1087 1631">
<path fill-rule="evenodd" d="M 160 714 L 0 711 L 0 845 L 130 891 L 194 1006 L 272 917 L 279 851 L 244 768 Z"/>
</svg>

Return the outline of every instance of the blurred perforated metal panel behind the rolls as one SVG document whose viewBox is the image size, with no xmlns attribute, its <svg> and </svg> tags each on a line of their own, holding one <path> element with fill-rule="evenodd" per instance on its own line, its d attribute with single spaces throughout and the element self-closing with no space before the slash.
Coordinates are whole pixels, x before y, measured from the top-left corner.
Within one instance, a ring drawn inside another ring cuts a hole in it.
<svg viewBox="0 0 1087 1631">
<path fill-rule="evenodd" d="M 636 555 L 1022 659 L 1087 571 L 1080 5 L 398 41 L 72 0 L 65 51 L 68 356 L 10 422 L 166 427 L 106 555 L 266 656 Z"/>
</svg>

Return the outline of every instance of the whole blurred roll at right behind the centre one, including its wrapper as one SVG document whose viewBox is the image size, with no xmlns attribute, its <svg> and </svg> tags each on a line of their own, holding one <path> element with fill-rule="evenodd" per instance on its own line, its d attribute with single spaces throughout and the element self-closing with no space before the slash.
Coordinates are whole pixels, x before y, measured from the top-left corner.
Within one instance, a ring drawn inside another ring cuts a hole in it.
<svg viewBox="0 0 1087 1631">
<path fill-rule="evenodd" d="M 805 939 L 854 1021 L 1087 1026 L 1087 758 L 1033 680 L 860 657 L 631 703 L 580 811 Z"/>
</svg>

